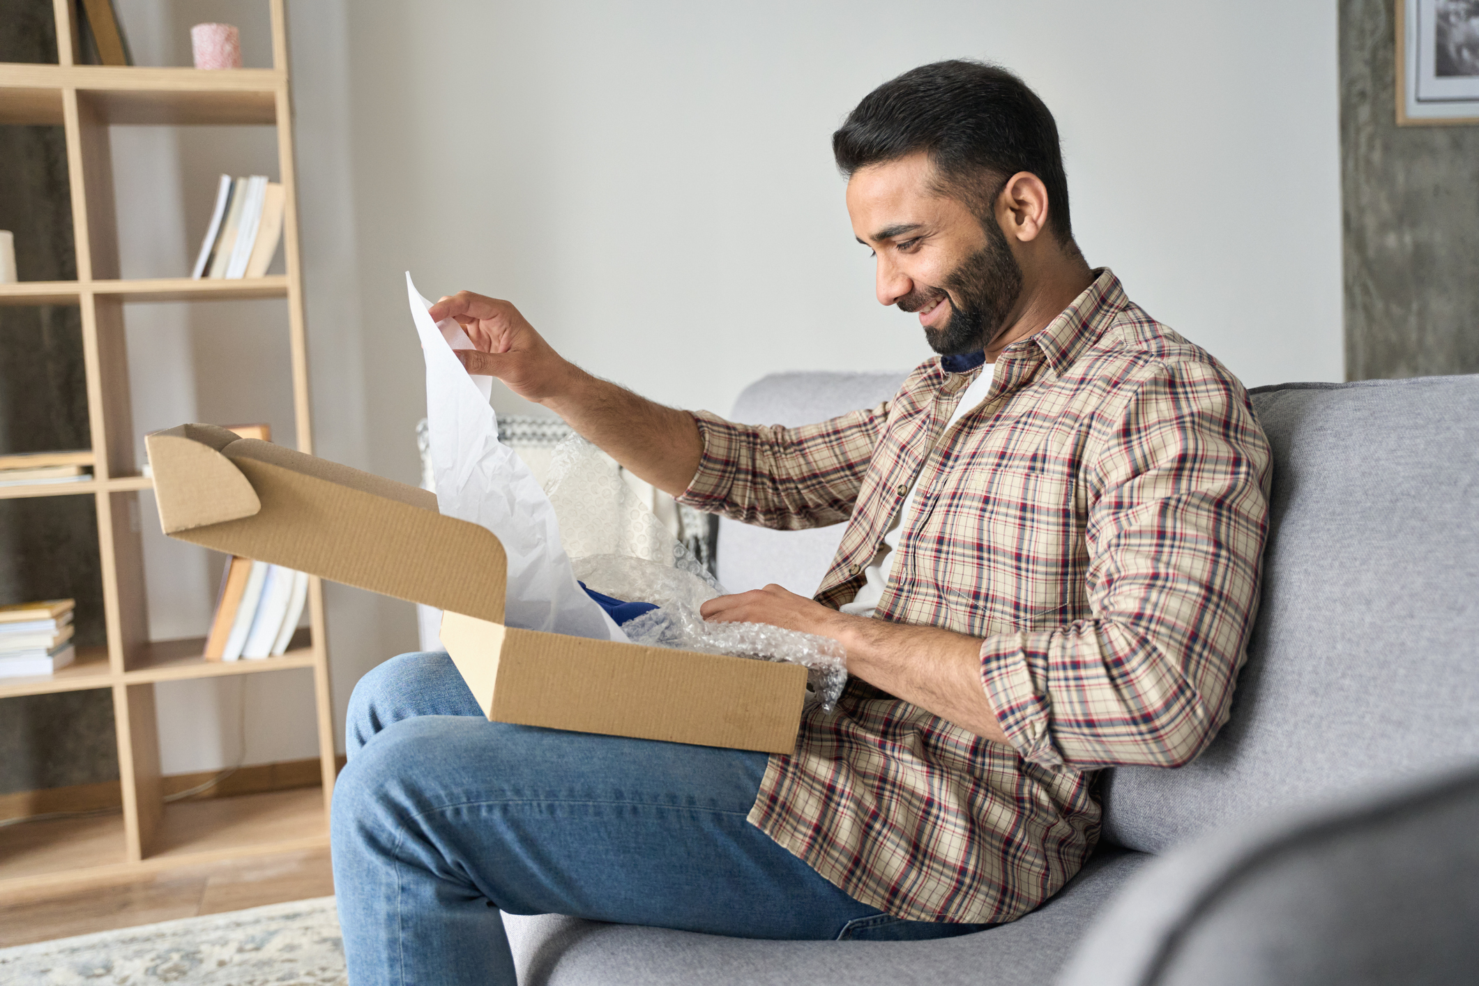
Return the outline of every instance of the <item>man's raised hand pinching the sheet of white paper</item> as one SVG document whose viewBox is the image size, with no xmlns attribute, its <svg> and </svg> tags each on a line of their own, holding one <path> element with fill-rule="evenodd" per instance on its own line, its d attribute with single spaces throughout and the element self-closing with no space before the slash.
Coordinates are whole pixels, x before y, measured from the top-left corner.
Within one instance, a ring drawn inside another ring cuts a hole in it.
<svg viewBox="0 0 1479 986">
<path fill-rule="evenodd" d="M 476 349 L 458 349 L 467 373 L 497 377 L 510 390 L 540 404 L 568 393 L 580 373 L 534 331 L 509 302 L 458 291 L 430 307 L 433 321 L 456 318 Z"/>
</svg>

